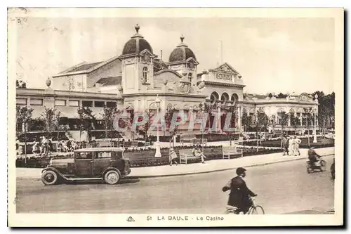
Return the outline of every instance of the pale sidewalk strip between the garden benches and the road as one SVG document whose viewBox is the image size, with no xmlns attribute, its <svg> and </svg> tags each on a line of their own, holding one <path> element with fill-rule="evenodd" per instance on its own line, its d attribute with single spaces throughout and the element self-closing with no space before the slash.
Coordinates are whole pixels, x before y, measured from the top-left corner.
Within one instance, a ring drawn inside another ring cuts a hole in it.
<svg viewBox="0 0 351 234">
<path fill-rule="evenodd" d="M 327 156 L 334 154 L 334 148 L 319 148 L 316 149 L 319 155 Z M 150 178 L 161 176 L 180 176 L 189 174 L 201 174 L 213 171 L 225 171 L 235 169 L 237 167 L 257 167 L 267 164 L 274 164 L 279 162 L 289 162 L 295 160 L 305 160 L 307 158 L 307 149 L 300 149 L 300 156 L 282 156 L 282 152 L 240 157 L 232 160 L 211 160 L 206 161 L 205 164 L 178 164 L 178 166 L 157 166 L 157 167 L 135 167 L 131 168 L 129 176 L 138 178 Z M 17 168 L 17 178 L 40 178 L 42 169 L 37 168 Z"/>
</svg>

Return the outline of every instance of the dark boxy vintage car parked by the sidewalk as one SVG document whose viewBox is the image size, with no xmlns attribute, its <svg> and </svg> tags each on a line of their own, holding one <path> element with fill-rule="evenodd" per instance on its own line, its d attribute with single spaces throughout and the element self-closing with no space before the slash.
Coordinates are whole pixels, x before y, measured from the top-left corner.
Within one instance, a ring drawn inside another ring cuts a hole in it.
<svg viewBox="0 0 351 234">
<path fill-rule="evenodd" d="M 59 181 L 103 180 L 117 184 L 131 173 L 129 160 L 121 148 L 86 148 L 74 151 L 74 158 L 53 159 L 41 171 L 41 181 L 46 186 Z"/>
</svg>

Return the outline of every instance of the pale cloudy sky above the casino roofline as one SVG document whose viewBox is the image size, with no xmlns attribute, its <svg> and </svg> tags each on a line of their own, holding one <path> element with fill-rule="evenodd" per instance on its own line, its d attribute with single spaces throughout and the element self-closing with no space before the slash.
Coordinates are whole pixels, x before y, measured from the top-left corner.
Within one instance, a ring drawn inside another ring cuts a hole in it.
<svg viewBox="0 0 351 234">
<path fill-rule="evenodd" d="M 11 29 L 18 32 L 17 76 L 44 89 L 68 67 L 119 56 L 137 23 L 164 61 L 183 34 L 198 73 L 222 57 L 242 75 L 245 92 L 335 91 L 333 18 L 27 18 Z"/>
</svg>

